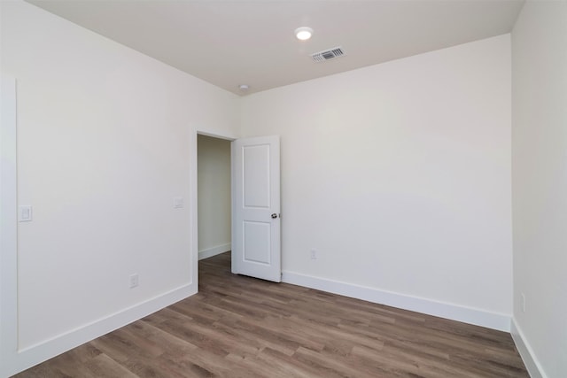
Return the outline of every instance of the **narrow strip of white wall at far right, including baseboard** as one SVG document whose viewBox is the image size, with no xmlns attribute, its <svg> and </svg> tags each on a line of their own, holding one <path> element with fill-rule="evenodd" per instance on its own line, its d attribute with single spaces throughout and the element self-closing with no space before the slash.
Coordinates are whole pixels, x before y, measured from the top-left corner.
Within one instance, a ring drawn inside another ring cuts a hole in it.
<svg viewBox="0 0 567 378">
<path fill-rule="evenodd" d="M 526 2 L 512 49 L 513 334 L 533 377 L 559 378 L 567 376 L 567 2 Z"/>
</svg>

